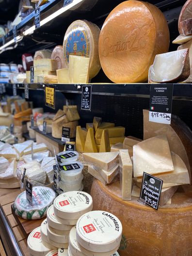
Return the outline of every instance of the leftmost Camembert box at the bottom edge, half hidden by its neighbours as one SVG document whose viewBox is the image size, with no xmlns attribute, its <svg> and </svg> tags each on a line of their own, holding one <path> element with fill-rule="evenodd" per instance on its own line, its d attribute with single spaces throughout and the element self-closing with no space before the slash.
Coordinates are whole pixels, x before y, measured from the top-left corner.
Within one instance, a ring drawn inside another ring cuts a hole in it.
<svg viewBox="0 0 192 256">
<path fill-rule="evenodd" d="M 45 256 L 50 251 L 49 248 L 47 248 L 42 243 L 41 239 L 41 227 L 35 228 L 29 235 L 27 239 L 27 246 L 29 253 L 33 256 Z"/>
</svg>

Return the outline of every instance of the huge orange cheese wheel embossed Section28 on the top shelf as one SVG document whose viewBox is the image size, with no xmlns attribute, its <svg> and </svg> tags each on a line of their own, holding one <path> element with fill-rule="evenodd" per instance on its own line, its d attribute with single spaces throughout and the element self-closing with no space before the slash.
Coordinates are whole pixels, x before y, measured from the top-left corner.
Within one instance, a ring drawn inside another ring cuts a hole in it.
<svg viewBox="0 0 192 256">
<path fill-rule="evenodd" d="M 116 83 L 147 81 L 155 55 L 168 48 L 169 29 L 162 12 L 137 0 L 114 8 L 99 36 L 101 67 Z"/>
</svg>

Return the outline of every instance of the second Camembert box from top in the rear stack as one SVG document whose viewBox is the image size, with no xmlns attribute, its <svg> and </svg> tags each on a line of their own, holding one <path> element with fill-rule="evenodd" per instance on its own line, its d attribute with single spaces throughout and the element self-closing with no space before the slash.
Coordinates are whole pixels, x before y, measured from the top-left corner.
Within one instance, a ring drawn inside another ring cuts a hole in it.
<svg viewBox="0 0 192 256">
<path fill-rule="evenodd" d="M 53 205 L 48 208 L 47 221 L 50 227 L 61 231 L 71 230 L 73 227 L 73 224 L 63 224 L 57 218 L 55 218 Z"/>
</svg>

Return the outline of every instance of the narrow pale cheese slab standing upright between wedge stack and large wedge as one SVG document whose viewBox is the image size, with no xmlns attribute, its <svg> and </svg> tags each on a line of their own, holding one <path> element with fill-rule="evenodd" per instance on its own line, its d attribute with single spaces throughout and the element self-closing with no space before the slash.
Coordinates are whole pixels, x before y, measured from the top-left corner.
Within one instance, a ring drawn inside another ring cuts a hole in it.
<svg viewBox="0 0 192 256">
<path fill-rule="evenodd" d="M 128 150 L 119 150 L 119 174 L 123 200 L 131 200 L 133 166 Z"/>
</svg>

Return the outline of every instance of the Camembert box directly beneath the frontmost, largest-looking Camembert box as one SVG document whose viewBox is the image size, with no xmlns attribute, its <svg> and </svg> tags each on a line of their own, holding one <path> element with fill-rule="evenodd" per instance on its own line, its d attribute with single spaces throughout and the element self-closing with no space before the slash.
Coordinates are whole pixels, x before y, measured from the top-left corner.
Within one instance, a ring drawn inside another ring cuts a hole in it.
<svg viewBox="0 0 192 256">
<path fill-rule="evenodd" d="M 76 226 L 74 226 L 69 233 L 69 247 L 70 251 L 74 256 L 116 256 L 115 253 L 118 250 L 119 246 L 113 249 L 112 251 L 105 253 L 95 253 L 86 250 L 83 248 L 77 241 L 76 237 Z"/>
</svg>

